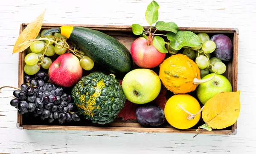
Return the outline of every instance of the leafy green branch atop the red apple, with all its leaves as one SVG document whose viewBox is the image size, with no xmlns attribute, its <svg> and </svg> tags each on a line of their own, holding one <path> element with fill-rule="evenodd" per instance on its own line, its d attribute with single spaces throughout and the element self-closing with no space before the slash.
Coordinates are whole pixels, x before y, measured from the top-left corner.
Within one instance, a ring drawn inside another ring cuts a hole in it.
<svg viewBox="0 0 256 154">
<path fill-rule="evenodd" d="M 175 22 L 157 21 L 159 8 L 160 6 L 154 0 L 147 6 L 145 19 L 150 28 L 145 30 L 140 24 L 132 24 L 131 28 L 135 35 L 148 39 L 148 45 L 151 45 L 150 42 L 152 42 L 160 53 L 173 53 L 170 48 L 172 50 L 180 50 L 183 47 L 197 47 L 202 44 L 199 36 L 191 31 L 180 31 Z M 152 26 L 154 23 L 155 25 Z M 151 32 L 153 28 L 155 30 Z M 167 34 L 156 34 L 156 31 L 167 31 Z M 165 42 L 163 37 L 160 36 L 166 36 L 169 42 Z"/>
</svg>

